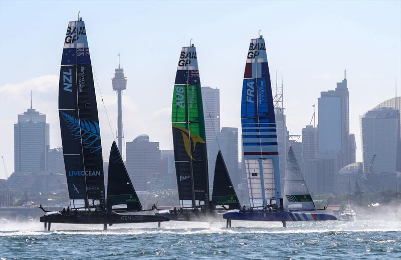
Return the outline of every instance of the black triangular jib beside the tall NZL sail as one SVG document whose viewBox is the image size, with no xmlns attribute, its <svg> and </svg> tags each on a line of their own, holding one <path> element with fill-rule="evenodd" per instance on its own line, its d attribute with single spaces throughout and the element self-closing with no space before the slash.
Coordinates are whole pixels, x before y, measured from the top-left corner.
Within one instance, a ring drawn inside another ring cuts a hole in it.
<svg viewBox="0 0 401 260">
<path fill-rule="evenodd" d="M 142 210 L 116 142 L 110 149 L 109 176 L 107 178 L 107 207 L 124 210 Z"/>
</svg>

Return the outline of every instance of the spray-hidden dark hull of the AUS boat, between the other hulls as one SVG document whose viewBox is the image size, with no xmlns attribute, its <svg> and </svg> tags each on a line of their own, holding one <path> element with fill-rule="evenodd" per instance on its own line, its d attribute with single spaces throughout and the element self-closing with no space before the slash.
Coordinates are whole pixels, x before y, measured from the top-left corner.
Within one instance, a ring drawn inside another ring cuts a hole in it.
<svg viewBox="0 0 401 260">
<path fill-rule="evenodd" d="M 226 212 L 226 211 L 224 211 Z M 217 211 L 200 211 L 183 209 L 174 212 L 170 210 L 169 213 L 156 213 L 155 216 L 163 216 L 170 221 L 194 221 L 194 222 L 216 222 L 223 221 L 222 214 Z"/>
</svg>

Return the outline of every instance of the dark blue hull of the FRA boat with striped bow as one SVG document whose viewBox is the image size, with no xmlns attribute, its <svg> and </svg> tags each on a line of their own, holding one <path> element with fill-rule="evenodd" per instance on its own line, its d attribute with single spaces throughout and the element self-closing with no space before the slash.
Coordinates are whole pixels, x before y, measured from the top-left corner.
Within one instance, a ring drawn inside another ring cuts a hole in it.
<svg viewBox="0 0 401 260">
<path fill-rule="evenodd" d="M 325 221 L 337 220 L 333 215 L 320 213 L 302 213 L 302 212 L 229 212 L 223 215 L 224 219 L 247 220 L 247 221 Z"/>
</svg>

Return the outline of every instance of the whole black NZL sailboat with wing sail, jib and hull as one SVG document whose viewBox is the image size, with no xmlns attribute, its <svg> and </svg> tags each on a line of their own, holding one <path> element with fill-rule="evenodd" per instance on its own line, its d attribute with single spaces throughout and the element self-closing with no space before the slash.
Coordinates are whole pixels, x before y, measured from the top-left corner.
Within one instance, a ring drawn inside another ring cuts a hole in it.
<svg viewBox="0 0 401 260">
<path fill-rule="evenodd" d="M 111 147 L 106 201 L 102 145 L 92 65 L 82 18 L 69 22 L 64 41 L 59 84 L 59 117 L 71 209 L 49 212 L 47 223 L 139 223 L 168 221 L 154 215 L 122 214 L 141 211 L 115 142 Z M 107 202 L 107 203 L 106 203 Z M 120 210 L 113 210 L 115 206 Z M 120 212 L 117 212 L 120 211 Z"/>
</svg>

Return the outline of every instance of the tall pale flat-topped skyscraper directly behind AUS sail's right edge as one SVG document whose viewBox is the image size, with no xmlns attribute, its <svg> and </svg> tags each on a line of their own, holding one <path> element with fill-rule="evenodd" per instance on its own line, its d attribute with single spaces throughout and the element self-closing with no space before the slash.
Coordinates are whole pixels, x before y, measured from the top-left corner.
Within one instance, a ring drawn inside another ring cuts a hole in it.
<svg viewBox="0 0 401 260">
<path fill-rule="evenodd" d="M 208 149 L 209 188 L 212 191 L 216 157 L 219 151 L 217 137 L 220 133 L 220 90 L 218 88 L 202 87 L 202 103 Z"/>
</svg>

